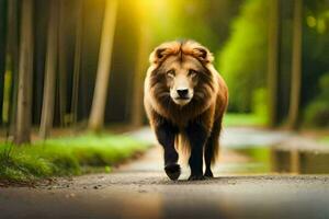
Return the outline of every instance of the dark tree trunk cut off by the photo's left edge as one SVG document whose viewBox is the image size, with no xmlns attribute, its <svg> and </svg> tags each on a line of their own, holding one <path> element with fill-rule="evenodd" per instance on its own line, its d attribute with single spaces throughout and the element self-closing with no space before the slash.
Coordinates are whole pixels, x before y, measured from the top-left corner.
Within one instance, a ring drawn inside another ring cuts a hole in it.
<svg viewBox="0 0 329 219">
<path fill-rule="evenodd" d="M 4 71 L 5 71 L 5 11 L 7 0 L 0 0 L 0 125 L 2 125 Z"/>
</svg>

